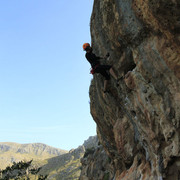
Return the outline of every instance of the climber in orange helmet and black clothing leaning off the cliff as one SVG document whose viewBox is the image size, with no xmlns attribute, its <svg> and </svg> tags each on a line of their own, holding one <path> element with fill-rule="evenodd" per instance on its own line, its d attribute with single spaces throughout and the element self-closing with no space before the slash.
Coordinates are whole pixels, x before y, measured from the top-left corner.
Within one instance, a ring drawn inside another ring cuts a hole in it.
<svg viewBox="0 0 180 180">
<path fill-rule="evenodd" d="M 107 91 L 107 83 L 110 80 L 109 73 L 115 78 L 116 85 L 118 86 L 118 77 L 115 74 L 111 65 L 101 65 L 100 59 L 107 59 L 109 57 L 109 53 L 105 57 L 98 57 L 93 53 L 93 49 L 89 43 L 83 44 L 83 50 L 86 51 L 86 59 L 91 64 L 91 74 L 100 73 L 104 78 L 104 90 L 103 92 L 106 93 Z"/>
</svg>

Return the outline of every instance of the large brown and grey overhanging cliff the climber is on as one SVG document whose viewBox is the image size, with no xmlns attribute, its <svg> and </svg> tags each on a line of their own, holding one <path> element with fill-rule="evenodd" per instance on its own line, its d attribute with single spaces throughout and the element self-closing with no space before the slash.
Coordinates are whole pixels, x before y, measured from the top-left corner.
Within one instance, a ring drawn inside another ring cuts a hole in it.
<svg viewBox="0 0 180 180">
<path fill-rule="evenodd" d="M 91 114 L 116 180 L 180 179 L 179 8 L 178 0 L 94 1 L 93 52 L 109 52 L 104 63 L 122 77 L 118 87 L 111 78 L 105 95 L 101 75 L 90 86 Z"/>
</svg>

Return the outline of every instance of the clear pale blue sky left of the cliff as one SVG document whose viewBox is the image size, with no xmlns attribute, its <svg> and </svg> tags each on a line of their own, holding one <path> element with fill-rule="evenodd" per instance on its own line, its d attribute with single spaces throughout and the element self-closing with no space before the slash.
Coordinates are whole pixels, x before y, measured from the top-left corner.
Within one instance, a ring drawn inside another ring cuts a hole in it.
<svg viewBox="0 0 180 180">
<path fill-rule="evenodd" d="M 96 134 L 90 42 L 93 0 L 0 1 L 0 142 L 70 150 Z"/>
</svg>

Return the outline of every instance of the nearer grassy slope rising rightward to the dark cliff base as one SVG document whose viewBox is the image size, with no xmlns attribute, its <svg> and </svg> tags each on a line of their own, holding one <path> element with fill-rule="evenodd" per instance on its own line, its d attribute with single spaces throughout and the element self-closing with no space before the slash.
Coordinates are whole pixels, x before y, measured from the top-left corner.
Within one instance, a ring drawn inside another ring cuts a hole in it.
<svg viewBox="0 0 180 180">
<path fill-rule="evenodd" d="M 90 136 L 78 148 L 48 159 L 39 173 L 48 174 L 48 179 L 52 180 L 78 180 L 81 174 L 81 159 L 90 149 L 97 147 L 98 142 L 97 136 Z"/>
</svg>

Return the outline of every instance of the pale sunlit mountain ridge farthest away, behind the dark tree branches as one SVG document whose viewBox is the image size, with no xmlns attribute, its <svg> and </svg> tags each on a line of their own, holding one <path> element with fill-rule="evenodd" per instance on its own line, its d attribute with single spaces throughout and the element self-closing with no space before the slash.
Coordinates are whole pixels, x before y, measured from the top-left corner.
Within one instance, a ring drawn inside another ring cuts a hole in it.
<svg viewBox="0 0 180 180">
<path fill-rule="evenodd" d="M 46 159 L 59 156 L 68 151 L 54 148 L 42 143 L 18 144 L 0 142 L 0 169 L 6 168 L 13 162 L 31 160 L 37 165 L 46 163 Z"/>
</svg>

